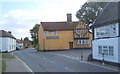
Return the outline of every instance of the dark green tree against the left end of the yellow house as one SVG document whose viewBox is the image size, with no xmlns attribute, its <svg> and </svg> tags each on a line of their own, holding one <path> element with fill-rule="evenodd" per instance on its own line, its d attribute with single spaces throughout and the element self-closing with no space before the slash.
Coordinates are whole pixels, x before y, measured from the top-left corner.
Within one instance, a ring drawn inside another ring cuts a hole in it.
<svg viewBox="0 0 120 74">
<path fill-rule="evenodd" d="M 33 29 L 30 29 L 31 38 L 33 40 L 32 44 L 36 46 L 38 44 L 38 30 L 39 30 L 39 24 L 36 24 Z"/>
</svg>

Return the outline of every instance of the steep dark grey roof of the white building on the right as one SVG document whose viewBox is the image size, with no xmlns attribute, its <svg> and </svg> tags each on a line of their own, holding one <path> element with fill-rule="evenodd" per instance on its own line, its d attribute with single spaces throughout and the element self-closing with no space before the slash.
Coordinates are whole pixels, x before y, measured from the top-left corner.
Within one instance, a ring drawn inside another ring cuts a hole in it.
<svg viewBox="0 0 120 74">
<path fill-rule="evenodd" d="M 110 2 L 95 20 L 92 28 L 117 23 L 118 18 L 120 19 L 120 17 L 118 17 L 120 15 L 118 14 L 118 10 L 120 10 L 120 7 L 118 7 L 118 5 L 119 2 Z"/>
</svg>

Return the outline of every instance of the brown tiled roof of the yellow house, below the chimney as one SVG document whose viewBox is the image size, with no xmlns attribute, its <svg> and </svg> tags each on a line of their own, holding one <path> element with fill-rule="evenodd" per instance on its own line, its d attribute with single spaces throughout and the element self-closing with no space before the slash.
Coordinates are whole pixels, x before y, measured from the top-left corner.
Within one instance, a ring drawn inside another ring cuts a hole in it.
<svg viewBox="0 0 120 74">
<path fill-rule="evenodd" d="M 73 30 L 79 22 L 41 22 L 45 31 Z"/>
</svg>

